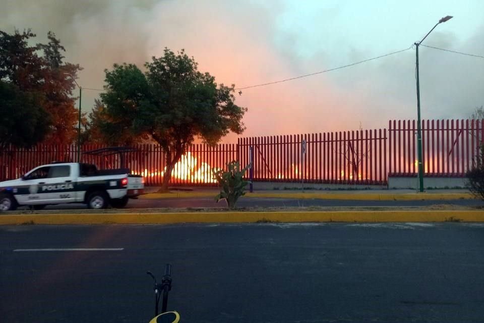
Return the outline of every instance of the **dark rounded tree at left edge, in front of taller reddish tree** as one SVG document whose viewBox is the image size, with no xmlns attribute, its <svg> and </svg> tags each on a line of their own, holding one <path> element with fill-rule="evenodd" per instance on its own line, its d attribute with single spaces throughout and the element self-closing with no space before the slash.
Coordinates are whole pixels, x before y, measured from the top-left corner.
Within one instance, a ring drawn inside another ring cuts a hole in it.
<svg viewBox="0 0 484 323">
<path fill-rule="evenodd" d="M 45 137 L 50 119 L 36 95 L 0 81 L 0 153 L 9 145 L 30 148 Z"/>
</svg>

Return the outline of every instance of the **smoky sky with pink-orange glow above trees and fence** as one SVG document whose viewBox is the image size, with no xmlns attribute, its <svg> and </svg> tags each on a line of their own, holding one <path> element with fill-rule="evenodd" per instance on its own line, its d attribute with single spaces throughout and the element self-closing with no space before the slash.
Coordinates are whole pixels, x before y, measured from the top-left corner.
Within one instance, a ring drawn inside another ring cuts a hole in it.
<svg viewBox="0 0 484 323">
<path fill-rule="evenodd" d="M 5 1 L 5 0 L 4 0 Z M 314 73 L 424 44 L 484 56 L 484 3 L 418 1 L 7 0 L 0 29 L 52 30 L 80 64 L 78 83 L 101 89 L 105 68 L 140 68 L 185 48 L 199 69 L 236 87 Z M 420 47 L 423 119 L 468 118 L 484 104 L 484 59 Z M 83 91 L 83 111 L 99 92 Z M 285 83 L 243 90 L 245 136 L 384 128 L 416 119 L 415 50 Z M 234 142 L 229 135 L 224 142 Z"/>
</svg>

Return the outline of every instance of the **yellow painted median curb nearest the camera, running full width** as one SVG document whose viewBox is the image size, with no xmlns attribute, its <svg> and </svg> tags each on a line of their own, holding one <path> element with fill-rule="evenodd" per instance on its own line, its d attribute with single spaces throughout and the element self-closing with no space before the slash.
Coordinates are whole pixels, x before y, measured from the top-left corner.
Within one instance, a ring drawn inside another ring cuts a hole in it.
<svg viewBox="0 0 484 323">
<path fill-rule="evenodd" d="M 0 225 L 255 222 L 484 222 L 484 210 L 2 214 Z"/>
</svg>

